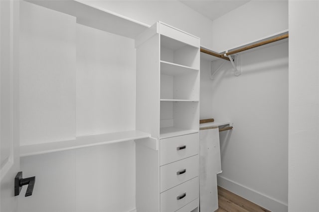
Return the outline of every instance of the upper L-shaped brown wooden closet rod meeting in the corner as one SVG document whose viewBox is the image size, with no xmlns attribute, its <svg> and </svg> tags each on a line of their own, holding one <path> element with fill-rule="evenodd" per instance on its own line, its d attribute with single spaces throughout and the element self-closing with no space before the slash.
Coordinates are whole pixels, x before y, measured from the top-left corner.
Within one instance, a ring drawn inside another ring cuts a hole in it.
<svg viewBox="0 0 319 212">
<path fill-rule="evenodd" d="M 243 52 L 243 51 L 246 51 L 246 50 L 249 50 L 249 49 L 253 49 L 253 48 L 260 47 L 260 46 L 263 46 L 263 45 L 266 45 L 266 44 L 270 44 L 270 43 L 273 43 L 273 42 L 276 42 L 276 41 L 280 41 L 280 40 L 286 39 L 288 37 L 289 37 L 288 33 L 284 34 L 284 35 L 280 35 L 278 37 L 271 38 L 269 40 L 261 41 L 259 43 L 255 43 L 255 44 L 252 44 L 252 45 L 240 48 L 240 49 L 233 50 L 231 52 L 227 52 L 226 55 L 227 56 L 228 55 L 233 55 L 233 54 L 236 54 L 236 53 L 239 53 L 239 52 Z M 223 54 L 218 54 L 218 53 L 212 52 L 212 51 L 204 49 L 204 48 L 200 48 L 200 52 L 208 54 L 208 55 L 215 56 L 217 58 L 221 58 L 221 59 L 230 61 L 229 58 L 225 57 Z"/>
</svg>

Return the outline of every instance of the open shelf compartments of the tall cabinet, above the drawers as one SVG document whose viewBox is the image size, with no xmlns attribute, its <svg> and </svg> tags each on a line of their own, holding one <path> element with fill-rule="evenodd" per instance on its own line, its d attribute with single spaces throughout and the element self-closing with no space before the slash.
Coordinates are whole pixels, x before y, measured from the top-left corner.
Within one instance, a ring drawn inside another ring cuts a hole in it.
<svg viewBox="0 0 319 212">
<path fill-rule="evenodd" d="M 160 35 L 160 138 L 198 130 L 198 45 L 179 37 Z"/>
</svg>

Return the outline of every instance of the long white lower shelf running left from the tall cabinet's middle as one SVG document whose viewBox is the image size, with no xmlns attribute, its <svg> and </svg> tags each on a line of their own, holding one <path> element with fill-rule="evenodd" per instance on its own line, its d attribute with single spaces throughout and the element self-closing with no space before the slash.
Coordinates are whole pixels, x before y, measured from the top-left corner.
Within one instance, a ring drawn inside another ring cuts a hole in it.
<svg viewBox="0 0 319 212">
<path fill-rule="evenodd" d="M 92 136 L 77 137 L 75 140 L 57 141 L 20 146 L 20 157 L 64 151 L 89 146 L 150 138 L 151 135 L 141 131 L 125 131 Z"/>
</svg>

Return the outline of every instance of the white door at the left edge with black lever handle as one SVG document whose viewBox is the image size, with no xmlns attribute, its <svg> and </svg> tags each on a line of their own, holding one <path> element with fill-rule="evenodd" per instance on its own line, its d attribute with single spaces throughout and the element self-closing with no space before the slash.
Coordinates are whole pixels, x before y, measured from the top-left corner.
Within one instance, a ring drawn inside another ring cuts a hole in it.
<svg viewBox="0 0 319 212">
<path fill-rule="evenodd" d="M 19 171 L 19 1 L 0 0 L 0 212 L 16 212 Z"/>
</svg>

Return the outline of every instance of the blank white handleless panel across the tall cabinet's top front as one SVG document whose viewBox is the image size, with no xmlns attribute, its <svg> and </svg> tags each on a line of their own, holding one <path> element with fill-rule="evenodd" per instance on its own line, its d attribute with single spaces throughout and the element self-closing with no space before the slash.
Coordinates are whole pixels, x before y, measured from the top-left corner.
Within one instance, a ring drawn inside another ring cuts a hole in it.
<svg viewBox="0 0 319 212">
<path fill-rule="evenodd" d="M 200 46 L 199 38 L 196 38 L 190 34 L 182 32 L 176 28 L 173 28 L 173 27 L 168 26 L 168 25 L 163 24 L 163 23 L 159 24 L 159 28 L 160 28 L 159 31 L 160 31 L 161 35 L 165 35 L 169 38 L 178 40 L 180 42 L 186 43 L 186 44 L 194 46 L 194 47 L 199 48 L 199 46 Z"/>
</svg>

